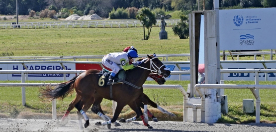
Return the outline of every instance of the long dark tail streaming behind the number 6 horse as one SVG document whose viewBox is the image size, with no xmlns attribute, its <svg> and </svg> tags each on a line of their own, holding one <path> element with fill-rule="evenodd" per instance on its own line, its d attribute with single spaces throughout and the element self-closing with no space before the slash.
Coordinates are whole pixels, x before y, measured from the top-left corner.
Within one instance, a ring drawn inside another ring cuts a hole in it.
<svg viewBox="0 0 276 132">
<path fill-rule="evenodd" d="M 63 100 L 65 97 L 72 94 L 72 92 L 74 91 L 74 83 L 78 76 L 73 77 L 71 80 L 67 82 L 58 84 L 54 89 L 52 89 L 50 86 L 46 86 L 46 88 L 41 88 L 39 90 L 39 99 L 42 102 L 50 102 L 54 99 Z"/>
</svg>

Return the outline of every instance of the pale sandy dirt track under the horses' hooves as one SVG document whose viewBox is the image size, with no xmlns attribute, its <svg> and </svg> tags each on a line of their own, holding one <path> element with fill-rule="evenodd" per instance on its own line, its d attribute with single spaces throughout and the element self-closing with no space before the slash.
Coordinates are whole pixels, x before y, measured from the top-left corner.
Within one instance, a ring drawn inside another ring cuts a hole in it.
<svg viewBox="0 0 276 132">
<path fill-rule="evenodd" d="M 275 132 L 276 124 L 251 123 L 251 124 L 205 124 L 186 122 L 152 122 L 149 124 L 153 129 L 148 129 L 142 122 L 120 123 L 121 126 L 95 126 L 96 122 L 102 120 L 91 120 L 91 125 L 79 129 L 77 120 L 69 120 L 64 127 L 59 120 L 27 120 L 27 119 L 3 119 L 0 118 L 0 132 Z M 83 121 L 84 123 L 84 121 Z"/>
</svg>

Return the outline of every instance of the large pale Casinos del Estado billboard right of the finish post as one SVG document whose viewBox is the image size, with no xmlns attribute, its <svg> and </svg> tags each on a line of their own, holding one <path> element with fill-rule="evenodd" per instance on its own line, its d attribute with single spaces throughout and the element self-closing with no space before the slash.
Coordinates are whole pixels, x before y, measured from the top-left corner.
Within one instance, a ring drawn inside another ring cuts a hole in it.
<svg viewBox="0 0 276 132">
<path fill-rule="evenodd" d="M 220 50 L 276 49 L 276 8 L 219 10 Z"/>
</svg>

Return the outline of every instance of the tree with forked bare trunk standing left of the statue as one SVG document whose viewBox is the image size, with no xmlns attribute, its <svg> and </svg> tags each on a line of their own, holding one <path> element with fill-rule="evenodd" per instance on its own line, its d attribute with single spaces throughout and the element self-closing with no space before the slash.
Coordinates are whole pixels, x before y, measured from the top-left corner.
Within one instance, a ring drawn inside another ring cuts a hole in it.
<svg viewBox="0 0 276 132">
<path fill-rule="evenodd" d="M 148 40 L 151 33 L 152 25 L 156 25 L 155 13 L 152 13 L 148 7 L 141 8 L 136 15 L 136 18 L 140 20 L 144 27 L 144 40 Z M 145 34 L 145 27 L 148 29 L 148 34 Z"/>
</svg>

